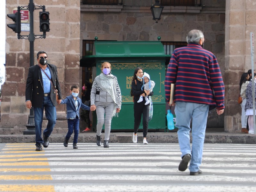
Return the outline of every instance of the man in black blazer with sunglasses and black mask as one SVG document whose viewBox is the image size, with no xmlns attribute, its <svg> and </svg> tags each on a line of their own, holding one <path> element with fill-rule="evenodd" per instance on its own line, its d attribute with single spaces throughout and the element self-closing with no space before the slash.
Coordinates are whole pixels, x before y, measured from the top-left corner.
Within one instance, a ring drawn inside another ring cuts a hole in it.
<svg viewBox="0 0 256 192">
<path fill-rule="evenodd" d="M 38 65 L 34 65 L 28 70 L 28 78 L 26 84 L 26 107 L 34 107 L 35 128 L 36 128 L 36 151 L 42 151 L 48 147 L 48 137 L 51 135 L 54 125 L 56 124 L 57 114 L 56 94 L 58 90 L 61 99 L 61 90 L 58 79 L 58 72 L 55 65 L 49 64 L 47 61 L 47 53 L 39 51 L 37 53 Z M 50 81 L 50 79 L 51 81 Z M 54 88 L 53 88 L 54 86 Z M 43 114 L 48 120 L 46 129 L 42 138 Z"/>
</svg>

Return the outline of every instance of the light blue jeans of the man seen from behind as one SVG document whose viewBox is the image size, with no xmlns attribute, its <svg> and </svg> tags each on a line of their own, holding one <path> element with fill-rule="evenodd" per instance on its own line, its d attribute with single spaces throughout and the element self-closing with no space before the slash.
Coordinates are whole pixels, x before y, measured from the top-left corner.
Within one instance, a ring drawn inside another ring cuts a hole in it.
<svg viewBox="0 0 256 192">
<path fill-rule="evenodd" d="M 176 102 L 176 127 L 181 151 L 181 157 L 190 154 L 190 172 L 197 172 L 202 163 L 204 136 L 208 117 L 209 105 Z M 190 122 L 192 119 L 192 150 L 190 148 Z"/>
</svg>

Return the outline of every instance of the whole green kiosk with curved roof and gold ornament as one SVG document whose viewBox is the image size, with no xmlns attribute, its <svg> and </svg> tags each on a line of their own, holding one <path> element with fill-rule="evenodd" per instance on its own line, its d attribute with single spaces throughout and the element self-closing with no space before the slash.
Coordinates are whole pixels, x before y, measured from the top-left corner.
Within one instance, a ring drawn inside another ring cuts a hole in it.
<svg viewBox="0 0 256 192">
<path fill-rule="evenodd" d="M 169 63 L 170 55 L 164 54 L 160 41 L 95 41 L 93 55 L 84 56 L 80 67 L 92 67 L 92 81 L 100 74 L 101 64 L 108 61 L 111 72 L 117 77 L 122 94 L 122 107 L 118 117 L 113 117 L 111 130 L 133 130 L 133 102 L 130 95 L 132 77 L 137 67 L 143 69 L 154 81 L 153 118 L 148 129 L 166 130 L 166 102 L 164 92 L 165 63 Z M 96 129 L 97 117 L 93 113 L 92 126 Z M 142 129 L 142 121 L 140 124 Z"/>
</svg>

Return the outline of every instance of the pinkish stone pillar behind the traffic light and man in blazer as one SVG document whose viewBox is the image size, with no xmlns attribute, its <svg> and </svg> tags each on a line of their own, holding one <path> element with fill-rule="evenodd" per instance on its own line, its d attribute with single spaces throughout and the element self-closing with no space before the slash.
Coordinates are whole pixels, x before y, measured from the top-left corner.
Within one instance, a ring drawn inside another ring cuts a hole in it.
<svg viewBox="0 0 256 192">
<path fill-rule="evenodd" d="M 6 14 L 12 13 L 17 6 L 27 6 L 28 0 L 6 0 Z M 44 4 L 43 4 L 44 3 Z M 69 94 L 71 84 L 79 82 L 80 60 L 80 1 L 79 0 L 34 0 L 35 5 L 45 5 L 50 12 L 50 32 L 45 39 L 34 42 L 34 63 L 36 53 L 48 53 L 49 63 L 58 68 L 58 76 L 63 98 Z M 34 33 L 39 31 L 39 11 L 34 11 Z M 6 16 L 6 24 L 13 21 Z M 21 32 L 28 35 L 29 32 Z M 17 39 L 10 28 L 6 27 L 6 77 L 2 85 L 0 134 L 22 133 L 26 127 L 29 109 L 25 106 L 25 87 L 29 68 L 29 41 Z M 60 132 L 66 125 L 66 106 L 57 106 L 58 121 L 54 132 Z M 44 120 L 45 121 L 45 120 Z M 43 122 L 43 127 L 46 126 Z M 66 132 L 66 131 L 65 131 Z"/>
</svg>

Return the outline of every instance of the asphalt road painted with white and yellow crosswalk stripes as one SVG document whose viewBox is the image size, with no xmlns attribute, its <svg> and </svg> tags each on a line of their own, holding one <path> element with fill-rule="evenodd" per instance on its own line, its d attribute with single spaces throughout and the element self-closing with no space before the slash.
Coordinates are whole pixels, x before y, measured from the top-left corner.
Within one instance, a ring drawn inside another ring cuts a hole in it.
<svg viewBox="0 0 256 192">
<path fill-rule="evenodd" d="M 0 191 L 255 191 L 255 144 L 204 144 L 202 175 L 178 171 L 177 143 L 0 143 Z"/>
</svg>

